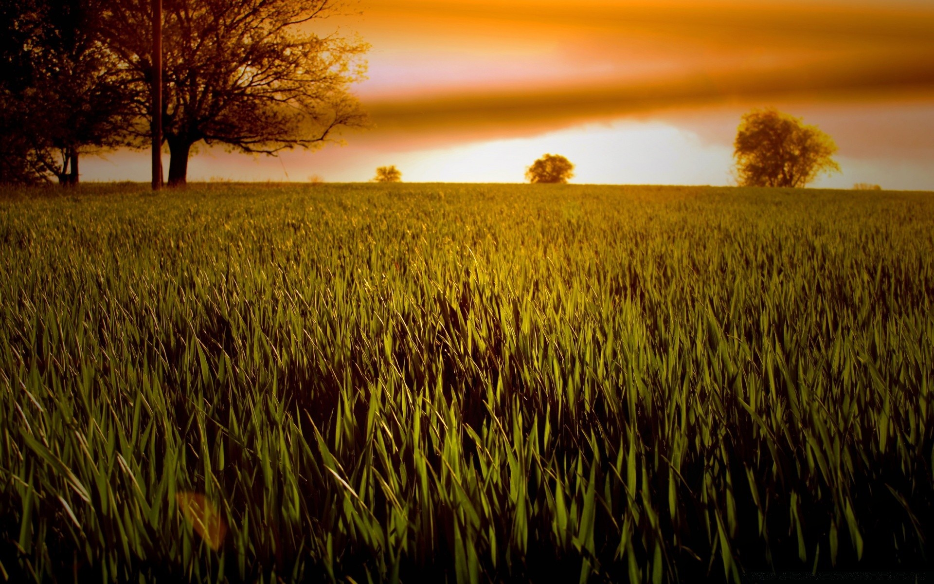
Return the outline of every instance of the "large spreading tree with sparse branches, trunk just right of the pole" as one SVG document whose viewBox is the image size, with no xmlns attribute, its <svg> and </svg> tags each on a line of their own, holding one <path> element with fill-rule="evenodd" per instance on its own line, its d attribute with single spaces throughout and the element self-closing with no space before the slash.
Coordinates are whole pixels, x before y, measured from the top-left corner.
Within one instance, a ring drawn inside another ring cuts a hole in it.
<svg viewBox="0 0 934 584">
<path fill-rule="evenodd" d="M 275 154 L 314 148 L 365 121 L 348 86 L 362 78 L 359 39 L 318 36 L 336 0 L 163 0 L 163 134 L 169 185 L 183 185 L 199 141 Z M 150 0 L 111 0 L 108 42 L 149 119 Z M 137 128 L 149 133 L 148 126 Z"/>
</svg>

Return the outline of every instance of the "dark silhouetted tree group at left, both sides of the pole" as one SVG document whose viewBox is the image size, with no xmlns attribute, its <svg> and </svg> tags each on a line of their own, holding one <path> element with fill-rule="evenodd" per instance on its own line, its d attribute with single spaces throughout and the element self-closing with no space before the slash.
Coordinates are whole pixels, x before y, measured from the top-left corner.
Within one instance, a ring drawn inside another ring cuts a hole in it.
<svg viewBox="0 0 934 584">
<path fill-rule="evenodd" d="M 350 83 L 367 45 L 307 32 L 333 0 L 163 0 L 169 184 L 191 147 L 276 153 L 365 115 Z M 78 181 L 81 153 L 147 144 L 149 0 L 0 0 L 0 182 Z"/>
</svg>

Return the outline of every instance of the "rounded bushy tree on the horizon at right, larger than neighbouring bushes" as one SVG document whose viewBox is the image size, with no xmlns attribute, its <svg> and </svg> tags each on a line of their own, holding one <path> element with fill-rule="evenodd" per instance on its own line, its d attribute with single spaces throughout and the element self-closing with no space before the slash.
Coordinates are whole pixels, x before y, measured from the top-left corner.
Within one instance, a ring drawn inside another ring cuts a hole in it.
<svg viewBox="0 0 934 584">
<path fill-rule="evenodd" d="M 743 115 L 733 146 L 741 186 L 803 187 L 822 172 L 840 172 L 830 136 L 773 108 Z"/>
</svg>

